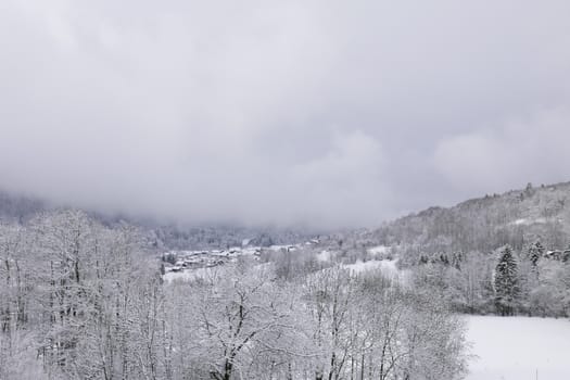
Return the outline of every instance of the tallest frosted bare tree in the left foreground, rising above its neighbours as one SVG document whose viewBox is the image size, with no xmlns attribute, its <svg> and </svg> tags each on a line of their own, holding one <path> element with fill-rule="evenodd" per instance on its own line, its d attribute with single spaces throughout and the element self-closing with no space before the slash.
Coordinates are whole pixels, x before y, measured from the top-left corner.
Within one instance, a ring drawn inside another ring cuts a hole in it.
<svg viewBox="0 0 570 380">
<path fill-rule="evenodd" d="M 89 271 L 93 257 L 91 220 L 83 212 L 61 211 L 33 223 L 40 307 L 46 315 L 40 351 L 46 365 L 72 368 L 80 329 L 89 313 Z"/>
</svg>

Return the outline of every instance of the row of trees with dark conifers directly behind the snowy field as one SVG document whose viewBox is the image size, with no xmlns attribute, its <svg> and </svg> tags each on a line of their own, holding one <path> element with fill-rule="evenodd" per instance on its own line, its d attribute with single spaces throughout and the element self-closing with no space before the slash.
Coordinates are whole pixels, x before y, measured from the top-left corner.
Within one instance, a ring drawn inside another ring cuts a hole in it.
<svg viewBox="0 0 570 380">
<path fill-rule="evenodd" d="M 409 270 L 417 287 L 457 312 L 570 316 L 570 251 L 547 251 L 540 241 L 520 251 L 423 254 Z"/>
</svg>

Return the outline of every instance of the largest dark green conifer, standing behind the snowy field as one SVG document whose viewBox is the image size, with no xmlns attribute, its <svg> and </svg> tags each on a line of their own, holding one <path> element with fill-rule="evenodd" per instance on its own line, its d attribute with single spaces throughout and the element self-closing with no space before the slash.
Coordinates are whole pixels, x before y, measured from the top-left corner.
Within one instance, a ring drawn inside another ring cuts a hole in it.
<svg viewBox="0 0 570 380">
<path fill-rule="evenodd" d="M 512 315 L 519 295 L 517 261 L 507 245 L 501 252 L 494 277 L 495 305 L 501 315 Z"/>
</svg>

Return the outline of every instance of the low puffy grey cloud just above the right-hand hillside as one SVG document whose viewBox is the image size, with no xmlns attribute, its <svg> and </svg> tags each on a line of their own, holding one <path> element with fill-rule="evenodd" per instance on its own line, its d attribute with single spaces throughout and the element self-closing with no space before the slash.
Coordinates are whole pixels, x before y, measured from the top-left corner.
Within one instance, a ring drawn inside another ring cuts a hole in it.
<svg viewBox="0 0 570 380">
<path fill-rule="evenodd" d="M 435 167 L 457 189 L 493 192 L 512 183 L 568 179 L 570 107 L 539 110 L 441 141 Z"/>
</svg>

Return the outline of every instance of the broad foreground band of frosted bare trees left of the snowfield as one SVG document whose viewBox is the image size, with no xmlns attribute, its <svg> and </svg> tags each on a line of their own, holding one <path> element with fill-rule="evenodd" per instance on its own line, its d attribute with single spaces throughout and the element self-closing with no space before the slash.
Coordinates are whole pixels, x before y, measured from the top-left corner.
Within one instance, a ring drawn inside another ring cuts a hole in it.
<svg viewBox="0 0 570 380">
<path fill-rule="evenodd" d="M 249 262 L 165 282 L 127 225 L 0 227 L 0 379 L 454 379 L 463 325 L 380 273 Z M 279 271 L 279 270 L 281 271 Z M 199 275 L 200 274 L 200 275 Z"/>
</svg>

